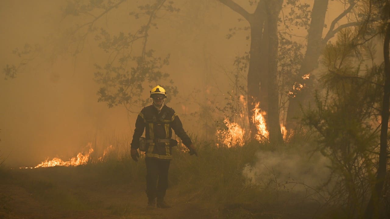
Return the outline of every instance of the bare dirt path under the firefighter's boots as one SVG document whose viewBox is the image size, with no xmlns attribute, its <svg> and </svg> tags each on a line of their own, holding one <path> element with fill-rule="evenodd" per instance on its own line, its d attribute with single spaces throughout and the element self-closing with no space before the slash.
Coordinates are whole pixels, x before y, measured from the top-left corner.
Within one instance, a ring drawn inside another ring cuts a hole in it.
<svg viewBox="0 0 390 219">
<path fill-rule="evenodd" d="M 146 209 L 147 198 L 140 187 L 109 186 L 103 189 L 100 186 L 84 185 L 62 189 L 67 190 L 66 194 L 71 197 L 81 197 L 74 202 L 82 201 L 82 207 L 76 204 L 72 206 L 73 203 L 61 207 L 57 201 L 51 201 L 53 197 L 43 194 L 50 193 L 50 189 L 33 194 L 20 185 L 0 184 L 0 219 L 216 218 L 211 210 L 201 207 L 194 200 L 189 201 L 189 197 L 180 196 L 180 191 L 175 188 L 168 190 L 167 194 L 167 201 L 173 208 L 153 210 Z"/>
</svg>

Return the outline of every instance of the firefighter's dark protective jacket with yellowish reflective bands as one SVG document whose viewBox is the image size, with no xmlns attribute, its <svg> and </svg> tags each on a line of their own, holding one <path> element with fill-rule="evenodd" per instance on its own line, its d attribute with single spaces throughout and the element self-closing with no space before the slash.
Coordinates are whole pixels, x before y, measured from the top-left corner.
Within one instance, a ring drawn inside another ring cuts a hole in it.
<svg viewBox="0 0 390 219">
<path fill-rule="evenodd" d="M 172 159 L 172 148 L 170 142 L 160 142 L 162 139 L 172 138 L 172 129 L 176 135 L 181 138 L 186 147 L 191 145 L 190 137 L 183 129 L 183 124 L 175 111 L 164 105 L 160 113 L 153 106 L 147 106 L 138 114 L 135 122 L 135 130 L 133 134 L 133 141 L 131 141 L 131 149 L 138 149 L 139 139 L 144 133 L 146 140 L 153 140 L 147 143 L 147 151 L 145 157 L 154 157 L 158 159 Z"/>
</svg>

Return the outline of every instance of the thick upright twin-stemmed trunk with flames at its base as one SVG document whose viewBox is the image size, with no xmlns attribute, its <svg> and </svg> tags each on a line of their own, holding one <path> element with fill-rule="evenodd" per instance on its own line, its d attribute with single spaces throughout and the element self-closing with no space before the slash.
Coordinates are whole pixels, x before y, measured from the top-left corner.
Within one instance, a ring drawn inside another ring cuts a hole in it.
<svg viewBox="0 0 390 219">
<path fill-rule="evenodd" d="M 266 1 L 259 1 L 253 14 L 249 14 L 232 0 L 219 1 L 230 7 L 233 11 L 241 14 L 250 24 L 251 42 L 247 106 L 251 140 L 255 140 L 256 134 L 258 133 L 253 118 L 255 106 L 259 104 L 260 109 L 268 115 L 264 119 L 266 120 L 269 131 L 269 140 L 273 142 L 283 141 L 279 125 L 278 86 L 276 78 L 278 57 L 277 22 L 283 1 L 278 0 L 275 4 L 275 1 L 268 0 L 269 9 L 272 10 L 271 14 L 264 10 L 264 3 Z M 266 16 L 267 13 L 269 16 Z M 269 18 L 272 18 L 272 21 L 269 21 Z M 269 25 L 272 25 L 272 31 L 269 30 Z M 272 58 L 269 56 L 270 52 L 272 52 Z"/>
</svg>

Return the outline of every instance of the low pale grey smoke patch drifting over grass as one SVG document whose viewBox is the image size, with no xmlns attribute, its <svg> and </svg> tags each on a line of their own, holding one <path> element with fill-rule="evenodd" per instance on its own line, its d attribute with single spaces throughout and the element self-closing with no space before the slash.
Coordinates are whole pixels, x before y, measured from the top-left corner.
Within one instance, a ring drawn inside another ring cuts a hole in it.
<svg viewBox="0 0 390 219">
<path fill-rule="evenodd" d="M 262 188 L 276 183 L 301 190 L 305 185 L 316 188 L 326 182 L 330 175 L 329 164 L 329 159 L 317 152 L 310 155 L 260 151 L 257 162 L 253 166 L 247 164 L 243 175 L 248 184 Z"/>
</svg>

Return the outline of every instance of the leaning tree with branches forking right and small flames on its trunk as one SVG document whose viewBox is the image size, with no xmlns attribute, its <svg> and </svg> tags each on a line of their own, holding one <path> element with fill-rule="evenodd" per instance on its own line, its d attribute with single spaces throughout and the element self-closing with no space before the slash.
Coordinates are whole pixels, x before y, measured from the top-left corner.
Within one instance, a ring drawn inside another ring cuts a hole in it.
<svg viewBox="0 0 390 219">
<path fill-rule="evenodd" d="M 345 18 L 356 7 L 356 1 L 349 0 L 345 3 L 346 9 L 333 19 L 328 32 L 323 37 L 323 30 L 326 27 L 325 15 L 328 10 L 328 2 L 329 0 L 314 0 L 313 2 L 305 56 L 297 72 L 298 74 L 296 74 L 294 85 L 291 85 L 293 88 L 292 94 L 289 95 L 289 107 L 286 118 L 286 127 L 289 130 L 294 129 L 301 118 L 301 106 L 306 105 L 308 100 L 312 99 L 314 79 L 316 77 L 312 72 L 318 67 L 318 60 L 324 47 L 337 32 L 360 23 L 360 21 L 350 21 L 341 25 L 338 24 L 342 18 Z M 300 87 L 300 85 L 304 85 L 304 87 Z"/>
</svg>

